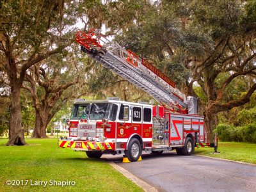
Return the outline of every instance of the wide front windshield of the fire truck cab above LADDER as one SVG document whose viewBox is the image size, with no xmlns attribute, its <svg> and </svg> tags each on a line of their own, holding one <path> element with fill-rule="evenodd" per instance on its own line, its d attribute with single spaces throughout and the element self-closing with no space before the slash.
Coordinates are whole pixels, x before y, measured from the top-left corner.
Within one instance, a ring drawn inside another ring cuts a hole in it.
<svg viewBox="0 0 256 192">
<path fill-rule="evenodd" d="M 70 119 L 81 118 L 84 111 L 85 118 L 89 117 L 91 120 L 102 120 L 105 118 L 115 121 L 117 109 L 118 106 L 112 103 L 74 104 Z"/>
</svg>

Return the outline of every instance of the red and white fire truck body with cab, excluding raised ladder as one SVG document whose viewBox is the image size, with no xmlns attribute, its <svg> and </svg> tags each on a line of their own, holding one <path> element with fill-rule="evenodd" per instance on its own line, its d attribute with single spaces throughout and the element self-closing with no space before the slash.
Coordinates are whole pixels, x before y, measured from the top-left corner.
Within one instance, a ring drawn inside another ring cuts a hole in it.
<svg viewBox="0 0 256 192">
<path fill-rule="evenodd" d="M 189 156 L 196 143 L 206 139 L 204 116 L 172 113 L 163 106 L 119 98 L 76 100 L 68 124 L 69 136 L 60 137 L 58 146 L 96 158 L 109 153 L 138 161 L 143 150 L 161 154 L 173 149 Z"/>
</svg>

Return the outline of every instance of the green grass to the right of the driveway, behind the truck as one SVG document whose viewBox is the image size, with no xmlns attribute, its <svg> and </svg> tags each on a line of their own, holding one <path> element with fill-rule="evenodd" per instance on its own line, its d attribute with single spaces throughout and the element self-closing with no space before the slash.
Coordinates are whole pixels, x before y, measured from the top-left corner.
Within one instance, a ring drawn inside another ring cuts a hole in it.
<svg viewBox="0 0 256 192">
<path fill-rule="evenodd" d="M 210 154 L 212 152 L 214 148 L 195 148 L 194 154 L 256 164 L 256 144 L 219 142 L 218 152 L 221 153 Z"/>
</svg>

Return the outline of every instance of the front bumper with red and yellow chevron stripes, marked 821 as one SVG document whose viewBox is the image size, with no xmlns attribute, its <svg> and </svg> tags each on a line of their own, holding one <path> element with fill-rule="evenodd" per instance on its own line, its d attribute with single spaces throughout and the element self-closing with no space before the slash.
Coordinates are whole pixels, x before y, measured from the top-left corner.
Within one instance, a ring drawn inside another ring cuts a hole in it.
<svg viewBox="0 0 256 192">
<path fill-rule="evenodd" d="M 87 141 L 58 141 L 58 147 L 67 147 L 74 150 L 84 148 L 85 150 L 114 150 L 114 143 L 100 143 Z"/>
</svg>

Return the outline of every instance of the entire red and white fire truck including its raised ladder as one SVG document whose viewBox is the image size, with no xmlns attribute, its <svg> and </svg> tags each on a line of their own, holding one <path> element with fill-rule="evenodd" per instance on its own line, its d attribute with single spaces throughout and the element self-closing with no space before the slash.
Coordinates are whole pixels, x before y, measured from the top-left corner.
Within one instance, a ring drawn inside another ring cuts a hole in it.
<svg viewBox="0 0 256 192">
<path fill-rule="evenodd" d="M 60 137 L 59 147 L 85 151 L 88 157 L 103 153 L 138 161 L 141 153 L 161 154 L 176 150 L 191 155 L 195 147 L 214 147 L 207 143 L 204 116 L 197 114 L 197 99 L 186 97 L 175 83 L 147 60 L 107 40 L 99 31 L 88 35 L 79 31 L 76 41 L 81 50 L 127 81 L 149 93 L 161 104 L 126 102 L 119 98 L 74 102 L 69 136 Z"/>
</svg>

